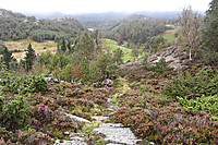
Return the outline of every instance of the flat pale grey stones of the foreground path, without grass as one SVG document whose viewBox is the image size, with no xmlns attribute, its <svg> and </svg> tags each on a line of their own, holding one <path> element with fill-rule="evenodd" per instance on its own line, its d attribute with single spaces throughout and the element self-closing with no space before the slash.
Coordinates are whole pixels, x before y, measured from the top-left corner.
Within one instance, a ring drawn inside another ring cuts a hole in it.
<svg viewBox="0 0 218 145">
<path fill-rule="evenodd" d="M 110 104 L 112 99 L 108 99 L 108 109 L 114 109 L 113 106 Z M 118 108 L 117 108 L 118 109 Z M 73 121 L 80 121 L 85 123 L 92 123 L 88 120 L 78 118 L 76 116 L 72 116 L 69 113 L 65 113 L 68 117 L 70 117 Z M 93 119 L 95 119 L 98 122 L 104 122 L 109 117 L 101 117 L 101 116 L 94 116 Z M 124 128 L 121 123 L 102 123 L 98 128 L 94 129 L 94 132 L 101 133 L 106 135 L 106 141 L 109 143 L 107 145 L 136 145 L 137 143 L 142 144 L 142 140 L 137 140 L 137 137 L 132 133 L 130 128 Z M 83 137 L 70 137 L 70 141 L 62 141 L 63 143 L 60 143 L 60 140 L 56 141 L 56 145 L 87 145 L 85 143 Z M 147 143 L 148 144 L 148 143 Z M 146 145 L 146 144 L 142 144 Z"/>
</svg>

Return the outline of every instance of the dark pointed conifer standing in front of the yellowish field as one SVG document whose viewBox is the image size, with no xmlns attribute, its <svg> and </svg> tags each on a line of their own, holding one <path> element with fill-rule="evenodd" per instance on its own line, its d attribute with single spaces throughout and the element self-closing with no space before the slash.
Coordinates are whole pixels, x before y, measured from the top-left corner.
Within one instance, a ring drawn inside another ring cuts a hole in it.
<svg viewBox="0 0 218 145">
<path fill-rule="evenodd" d="M 27 47 L 26 56 L 24 58 L 27 72 L 32 70 L 35 58 L 36 58 L 35 50 L 32 48 L 32 45 L 29 44 Z"/>
</svg>

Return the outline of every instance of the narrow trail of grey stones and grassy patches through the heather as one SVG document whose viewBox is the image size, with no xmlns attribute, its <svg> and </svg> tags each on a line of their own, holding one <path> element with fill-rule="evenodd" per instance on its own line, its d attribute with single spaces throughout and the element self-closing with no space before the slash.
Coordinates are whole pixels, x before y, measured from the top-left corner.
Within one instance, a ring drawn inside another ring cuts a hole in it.
<svg viewBox="0 0 218 145">
<path fill-rule="evenodd" d="M 119 88 L 122 88 L 119 90 L 119 93 L 123 93 L 128 89 L 130 89 L 126 80 L 121 78 L 120 80 L 121 84 Z M 105 113 L 102 116 L 94 116 L 92 117 L 93 120 L 100 122 L 100 125 L 98 128 L 95 128 L 93 132 L 96 132 L 98 134 L 104 134 L 105 135 L 105 141 L 107 141 L 106 145 L 146 145 L 150 143 L 145 143 L 141 138 L 137 138 L 131 131 L 130 128 L 125 128 L 121 123 L 105 123 L 105 120 L 109 118 L 110 114 L 116 112 L 117 109 L 119 109 L 119 106 L 114 104 L 113 97 L 116 95 L 112 95 L 108 98 L 107 100 L 107 108 L 106 110 L 109 111 L 109 113 Z M 88 120 L 85 120 L 83 118 L 78 118 L 72 114 L 66 114 L 69 116 L 73 121 L 81 121 L 85 123 L 92 123 Z M 68 134 L 68 133 L 66 133 Z M 60 140 L 56 141 L 56 145 L 89 145 L 85 142 L 84 137 L 81 137 L 81 133 L 76 134 L 72 133 L 70 134 L 70 141 L 62 141 L 60 143 Z M 74 137 L 72 137 L 74 136 Z M 85 135 L 84 135 L 85 136 Z"/>
</svg>

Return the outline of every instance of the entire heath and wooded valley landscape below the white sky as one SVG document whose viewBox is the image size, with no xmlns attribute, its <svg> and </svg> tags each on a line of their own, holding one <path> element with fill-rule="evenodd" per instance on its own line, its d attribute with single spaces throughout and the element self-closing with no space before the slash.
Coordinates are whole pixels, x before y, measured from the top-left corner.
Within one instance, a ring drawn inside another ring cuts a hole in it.
<svg viewBox="0 0 218 145">
<path fill-rule="evenodd" d="M 0 9 L 0 144 L 218 144 L 213 1 L 170 19 Z"/>
</svg>

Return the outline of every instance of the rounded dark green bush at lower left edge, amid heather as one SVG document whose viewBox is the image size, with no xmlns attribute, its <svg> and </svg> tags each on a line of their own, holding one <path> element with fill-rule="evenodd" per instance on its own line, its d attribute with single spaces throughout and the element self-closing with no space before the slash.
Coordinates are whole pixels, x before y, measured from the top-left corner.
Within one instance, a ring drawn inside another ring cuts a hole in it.
<svg viewBox="0 0 218 145">
<path fill-rule="evenodd" d="M 1 126 L 15 131 L 31 125 L 32 107 L 23 96 L 14 96 L 8 100 L 1 111 Z"/>
</svg>

